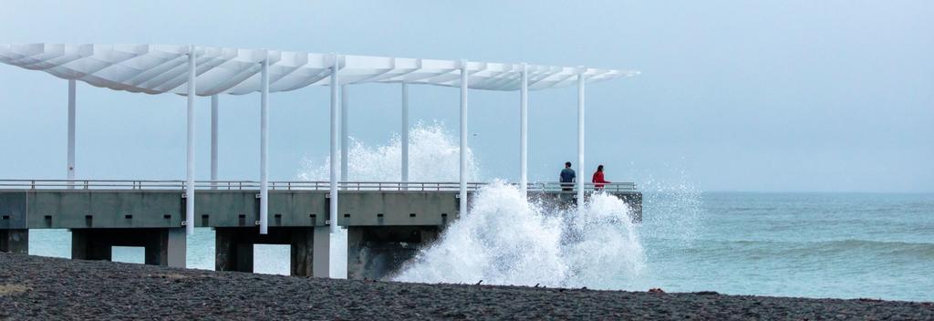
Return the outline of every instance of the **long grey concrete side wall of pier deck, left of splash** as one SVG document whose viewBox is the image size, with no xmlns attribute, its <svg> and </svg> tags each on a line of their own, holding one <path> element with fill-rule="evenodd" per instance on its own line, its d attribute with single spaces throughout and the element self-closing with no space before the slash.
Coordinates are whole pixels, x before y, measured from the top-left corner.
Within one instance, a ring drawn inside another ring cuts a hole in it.
<svg viewBox="0 0 934 321">
<path fill-rule="evenodd" d="M 254 227 L 256 190 L 199 190 L 196 227 Z M 0 229 L 177 228 L 185 214 L 181 190 L 0 191 Z M 343 191 L 341 226 L 437 226 L 457 219 L 455 192 Z M 270 227 L 327 226 L 324 191 L 269 193 Z"/>
</svg>

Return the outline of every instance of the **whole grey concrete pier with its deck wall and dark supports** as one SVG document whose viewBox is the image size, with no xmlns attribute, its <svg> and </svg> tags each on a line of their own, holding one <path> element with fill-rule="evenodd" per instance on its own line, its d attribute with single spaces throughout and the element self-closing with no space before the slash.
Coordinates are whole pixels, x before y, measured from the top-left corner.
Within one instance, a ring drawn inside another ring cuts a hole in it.
<svg viewBox="0 0 934 321">
<path fill-rule="evenodd" d="M 184 267 L 184 230 L 193 225 L 216 230 L 219 271 L 252 272 L 254 244 L 287 244 L 291 275 L 330 277 L 329 229 L 336 224 L 347 229 L 347 277 L 384 279 L 461 215 L 461 199 L 451 183 L 356 183 L 341 191 L 340 213 L 332 222 L 331 198 L 318 183 L 285 182 L 274 184 L 268 194 L 269 233 L 262 235 L 262 195 L 250 182 L 199 189 L 192 222 L 185 220 L 187 200 L 174 183 L 84 184 L 42 188 L 28 181 L 23 188 L 0 189 L 0 251 L 27 253 L 29 229 L 69 229 L 73 258 L 111 259 L 112 246 L 141 246 L 146 248 L 147 264 Z M 574 193 L 560 188 L 557 183 L 543 185 L 531 188 L 529 195 L 570 208 L 576 202 Z M 604 192 L 627 202 L 633 221 L 642 220 L 642 193 L 634 186 Z M 468 193 L 467 202 L 473 193 Z"/>
</svg>

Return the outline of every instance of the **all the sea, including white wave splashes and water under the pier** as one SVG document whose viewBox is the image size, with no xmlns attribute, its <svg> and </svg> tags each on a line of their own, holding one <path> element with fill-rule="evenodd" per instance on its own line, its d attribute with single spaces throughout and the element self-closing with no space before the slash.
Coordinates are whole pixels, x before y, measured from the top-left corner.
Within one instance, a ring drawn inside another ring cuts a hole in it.
<svg viewBox="0 0 934 321">
<path fill-rule="evenodd" d="M 351 180 L 397 180 L 399 139 L 355 142 Z M 413 128 L 413 181 L 456 181 L 456 139 Z M 469 174 L 480 177 L 470 158 Z M 326 158 L 297 174 L 325 178 Z M 449 168 L 448 168 L 449 167 Z M 455 175 L 455 176 L 452 176 Z M 701 192 L 686 181 L 639 182 L 644 220 L 611 195 L 581 210 L 527 202 L 492 184 L 392 279 L 812 298 L 934 300 L 934 194 Z M 70 257 L 66 230 L 31 230 L 30 254 Z M 346 233 L 333 236 L 333 276 L 346 275 Z M 257 245 L 256 272 L 288 274 L 289 248 Z M 114 260 L 142 262 L 140 248 Z M 214 267 L 214 233 L 188 238 L 188 266 Z"/>
</svg>

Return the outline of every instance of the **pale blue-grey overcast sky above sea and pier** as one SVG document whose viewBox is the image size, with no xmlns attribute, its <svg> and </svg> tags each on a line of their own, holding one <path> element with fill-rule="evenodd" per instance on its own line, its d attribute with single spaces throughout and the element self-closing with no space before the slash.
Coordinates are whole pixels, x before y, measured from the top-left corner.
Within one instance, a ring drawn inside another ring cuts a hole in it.
<svg viewBox="0 0 934 321">
<path fill-rule="evenodd" d="M 934 191 L 931 1 L 17 1 L 0 43 L 194 44 L 631 69 L 587 87 L 587 161 L 705 191 Z M 351 135 L 399 132 L 399 88 L 351 89 Z M 328 154 L 326 87 L 272 94 L 270 179 Z M 259 94 L 221 96 L 220 179 L 259 178 Z M 0 64 L 0 178 L 64 178 L 67 81 Z M 197 178 L 209 177 L 199 98 Z M 412 86 L 456 137 L 459 91 Z M 518 93 L 470 92 L 485 179 L 518 176 Z M 77 174 L 183 179 L 182 96 L 78 84 Z M 531 180 L 576 162 L 576 89 L 532 91 Z M 574 165 L 575 168 L 578 166 Z M 456 169 L 452 169 L 456 171 Z M 585 175 L 585 176 L 586 176 Z"/>
</svg>

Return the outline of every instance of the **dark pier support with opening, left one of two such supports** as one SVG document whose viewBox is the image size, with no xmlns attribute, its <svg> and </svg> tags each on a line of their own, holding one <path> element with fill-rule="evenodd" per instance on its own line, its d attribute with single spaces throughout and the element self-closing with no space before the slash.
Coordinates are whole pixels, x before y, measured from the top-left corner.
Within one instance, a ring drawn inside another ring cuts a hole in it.
<svg viewBox="0 0 934 321">
<path fill-rule="evenodd" d="M 71 258 L 111 260 L 113 246 L 145 248 L 145 263 L 184 268 L 184 229 L 72 229 Z"/>
</svg>

